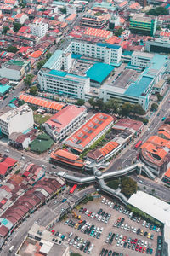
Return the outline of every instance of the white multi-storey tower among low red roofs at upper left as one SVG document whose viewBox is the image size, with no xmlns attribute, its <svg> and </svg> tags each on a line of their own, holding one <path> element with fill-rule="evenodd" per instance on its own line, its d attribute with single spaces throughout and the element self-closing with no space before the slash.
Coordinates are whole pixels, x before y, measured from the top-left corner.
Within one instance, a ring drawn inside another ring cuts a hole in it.
<svg viewBox="0 0 170 256">
<path fill-rule="evenodd" d="M 44 23 L 42 19 L 35 19 L 30 26 L 31 34 L 39 38 L 43 38 L 48 32 L 48 24 Z"/>
</svg>

